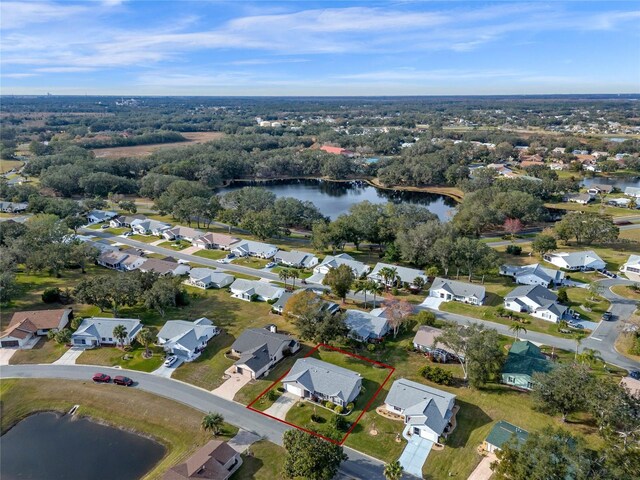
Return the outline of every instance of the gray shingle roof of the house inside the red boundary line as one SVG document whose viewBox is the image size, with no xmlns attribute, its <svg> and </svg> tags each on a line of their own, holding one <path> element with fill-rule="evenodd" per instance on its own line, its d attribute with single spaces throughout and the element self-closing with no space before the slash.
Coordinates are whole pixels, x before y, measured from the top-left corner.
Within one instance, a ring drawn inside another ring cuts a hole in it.
<svg viewBox="0 0 640 480">
<path fill-rule="evenodd" d="M 348 401 L 360 388 L 362 377 L 346 368 L 307 357 L 297 360 L 282 382 L 298 382 L 310 392 Z"/>
</svg>

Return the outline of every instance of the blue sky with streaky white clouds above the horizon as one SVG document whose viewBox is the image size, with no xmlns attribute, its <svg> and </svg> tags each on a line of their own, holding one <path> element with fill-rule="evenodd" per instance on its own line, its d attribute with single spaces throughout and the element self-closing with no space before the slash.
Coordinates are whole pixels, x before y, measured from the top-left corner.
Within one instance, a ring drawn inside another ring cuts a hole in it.
<svg viewBox="0 0 640 480">
<path fill-rule="evenodd" d="M 3 94 L 640 92 L 638 2 L 3 1 Z"/>
</svg>

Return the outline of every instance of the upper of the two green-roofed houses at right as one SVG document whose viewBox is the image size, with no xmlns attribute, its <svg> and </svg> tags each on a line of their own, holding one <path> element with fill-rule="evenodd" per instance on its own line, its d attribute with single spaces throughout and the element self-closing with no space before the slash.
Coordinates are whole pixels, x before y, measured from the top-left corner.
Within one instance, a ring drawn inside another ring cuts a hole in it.
<svg viewBox="0 0 640 480">
<path fill-rule="evenodd" d="M 507 360 L 502 366 L 502 383 L 523 390 L 533 388 L 533 374 L 546 373 L 553 364 L 545 357 L 540 348 L 526 340 L 511 345 Z"/>
</svg>

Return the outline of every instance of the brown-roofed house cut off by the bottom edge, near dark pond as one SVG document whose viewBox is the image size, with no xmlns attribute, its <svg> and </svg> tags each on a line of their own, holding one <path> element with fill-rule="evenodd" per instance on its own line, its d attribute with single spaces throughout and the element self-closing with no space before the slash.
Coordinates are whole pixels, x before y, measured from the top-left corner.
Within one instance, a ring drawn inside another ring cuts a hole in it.
<svg viewBox="0 0 640 480">
<path fill-rule="evenodd" d="M 228 480 L 242 465 L 240 454 L 227 442 L 210 440 L 186 462 L 171 467 L 163 480 Z"/>
</svg>

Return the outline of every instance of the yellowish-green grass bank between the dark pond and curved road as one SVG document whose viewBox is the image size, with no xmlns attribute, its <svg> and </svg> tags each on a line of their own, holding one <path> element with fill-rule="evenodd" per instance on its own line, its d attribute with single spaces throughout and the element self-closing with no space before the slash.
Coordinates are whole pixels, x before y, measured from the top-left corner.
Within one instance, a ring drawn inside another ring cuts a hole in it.
<svg viewBox="0 0 640 480">
<path fill-rule="evenodd" d="M 27 415 L 55 410 L 68 412 L 79 404 L 78 415 L 95 418 L 150 436 L 167 451 L 145 479 L 161 478 L 171 466 L 183 462 L 211 435 L 200 428 L 203 413 L 172 400 L 135 388 L 97 385 L 91 381 L 3 380 L 2 432 Z M 180 421 L 172 421 L 179 418 Z M 225 425 L 221 439 L 229 439 L 237 428 Z"/>
</svg>

